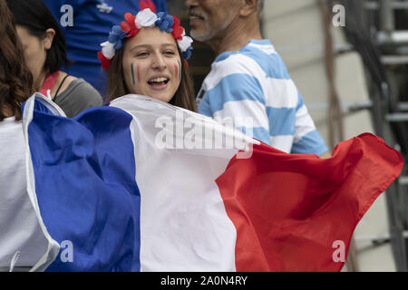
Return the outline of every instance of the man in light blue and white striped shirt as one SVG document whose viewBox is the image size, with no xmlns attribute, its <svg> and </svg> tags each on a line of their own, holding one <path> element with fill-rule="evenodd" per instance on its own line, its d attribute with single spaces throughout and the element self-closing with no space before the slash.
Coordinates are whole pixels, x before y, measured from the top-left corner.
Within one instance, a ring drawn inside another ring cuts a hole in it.
<svg viewBox="0 0 408 290">
<path fill-rule="evenodd" d="M 198 95 L 199 112 L 250 120 L 238 129 L 287 153 L 328 158 L 302 96 L 269 40 L 262 39 L 263 0 L 187 0 L 191 36 L 217 58 Z"/>
</svg>

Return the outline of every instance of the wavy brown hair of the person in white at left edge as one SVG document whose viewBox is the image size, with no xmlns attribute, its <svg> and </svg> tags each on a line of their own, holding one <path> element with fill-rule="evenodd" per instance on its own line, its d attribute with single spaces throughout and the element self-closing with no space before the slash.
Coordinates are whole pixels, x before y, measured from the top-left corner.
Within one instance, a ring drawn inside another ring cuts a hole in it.
<svg viewBox="0 0 408 290">
<path fill-rule="evenodd" d="M 25 66 L 15 20 L 4 0 L 0 0 L 0 27 L 0 121 L 7 117 L 5 111 L 19 121 L 20 106 L 32 94 L 33 76 Z"/>
</svg>

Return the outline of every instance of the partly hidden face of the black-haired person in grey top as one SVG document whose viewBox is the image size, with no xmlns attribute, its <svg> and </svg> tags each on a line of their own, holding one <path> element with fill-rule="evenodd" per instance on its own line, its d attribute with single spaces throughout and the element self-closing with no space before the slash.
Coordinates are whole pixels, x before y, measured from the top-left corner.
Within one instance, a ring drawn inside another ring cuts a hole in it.
<svg viewBox="0 0 408 290">
<path fill-rule="evenodd" d="M 53 43 L 53 29 L 46 32 L 43 40 L 30 34 L 28 29 L 21 25 L 16 25 L 18 37 L 23 44 L 24 60 L 33 74 L 34 87 L 41 87 L 44 82 L 45 72 L 44 63 L 47 57 L 47 50 L 51 48 Z M 51 31 L 51 32 L 50 32 Z"/>
</svg>

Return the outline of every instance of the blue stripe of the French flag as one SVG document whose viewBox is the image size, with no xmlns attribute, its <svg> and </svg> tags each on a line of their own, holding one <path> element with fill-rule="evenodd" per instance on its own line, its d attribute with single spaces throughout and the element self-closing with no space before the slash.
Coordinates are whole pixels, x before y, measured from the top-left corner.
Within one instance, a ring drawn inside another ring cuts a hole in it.
<svg viewBox="0 0 408 290">
<path fill-rule="evenodd" d="M 41 216 L 55 241 L 73 246 L 73 261 L 62 247 L 47 271 L 140 271 L 131 121 L 110 107 L 67 119 L 36 102 L 28 136 Z"/>
</svg>

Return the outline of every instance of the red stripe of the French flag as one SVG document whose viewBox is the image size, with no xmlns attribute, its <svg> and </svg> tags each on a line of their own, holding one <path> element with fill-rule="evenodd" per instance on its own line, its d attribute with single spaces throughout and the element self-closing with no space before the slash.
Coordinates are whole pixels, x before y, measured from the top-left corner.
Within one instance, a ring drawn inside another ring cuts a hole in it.
<svg viewBox="0 0 408 290">
<path fill-rule="evenodd" d="M 402 169 L 401 155 L 368 133 L 328 160 L 263 143 L 252 158 L 232 159 L 216 182 L 237 228 L 237 271 L 340 271 L 334 242 L 348 251 L 357 223 Z"/>
</svg>

